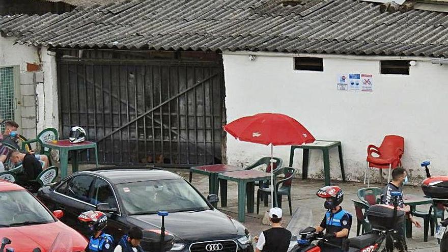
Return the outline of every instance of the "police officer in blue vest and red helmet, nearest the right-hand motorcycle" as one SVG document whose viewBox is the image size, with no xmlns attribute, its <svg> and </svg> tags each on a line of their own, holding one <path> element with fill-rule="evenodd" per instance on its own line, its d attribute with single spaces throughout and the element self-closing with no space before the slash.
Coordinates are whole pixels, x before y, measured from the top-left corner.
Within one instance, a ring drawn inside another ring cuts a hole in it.
<svg viewBox="0 0 448 252">
<path fill-rule="evenodd" d="M 344 191 L 339 186 L 325 186 L 316 195 L 325 199 L 324 207 L 327 209 L 322 222 L 316 227 L 317 232 L 326 231 L 325 242 L 321 242 L 319 246 L 322 252 L 341 252 L 341 246 L 352 226 L 352 215 L 340 206 L 344 200 Z"/>
</svg>

